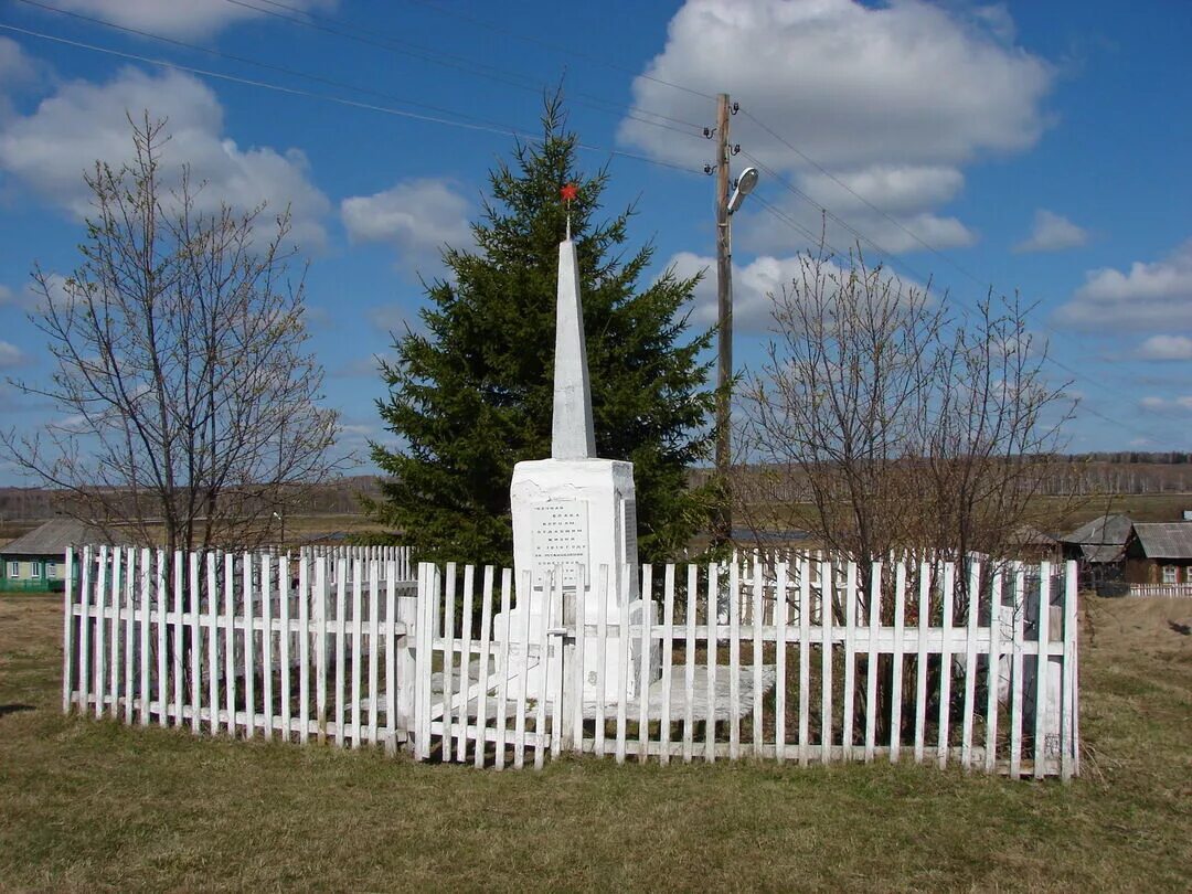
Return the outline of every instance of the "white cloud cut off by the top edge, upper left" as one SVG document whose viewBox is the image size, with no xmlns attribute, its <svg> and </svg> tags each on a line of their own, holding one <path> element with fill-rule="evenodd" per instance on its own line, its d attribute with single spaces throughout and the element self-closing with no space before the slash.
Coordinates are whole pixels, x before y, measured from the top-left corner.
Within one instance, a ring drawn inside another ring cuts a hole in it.
<svg viewBox="0 0 1192 894">
<path fill-rule="evenodd" d="M 237 21 L 263 15 L 267 11 L 265 4 L 253 8 L 226 0 L 58 0 L 57 5 L 117 25 L 170 37 L 212 35 Z M 336 0 L 288 0 L 287 5 L 297 12 L 330 10 Z"/>
</svg>

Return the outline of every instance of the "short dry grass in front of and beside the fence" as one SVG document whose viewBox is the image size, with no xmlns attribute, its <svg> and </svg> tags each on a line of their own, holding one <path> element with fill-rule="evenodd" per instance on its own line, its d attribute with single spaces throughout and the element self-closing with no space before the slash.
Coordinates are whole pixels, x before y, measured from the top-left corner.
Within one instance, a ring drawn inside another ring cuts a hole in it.
<svg viewBox="0 0 1192 894">
<path fill-rule="evenodd" d="M 1089 600 L 1086 776 L 535 774 L 61 713 L 61 608 L 0 597 L 0 888 L 1187 890 L 1192 603 Z"/>
</svg>

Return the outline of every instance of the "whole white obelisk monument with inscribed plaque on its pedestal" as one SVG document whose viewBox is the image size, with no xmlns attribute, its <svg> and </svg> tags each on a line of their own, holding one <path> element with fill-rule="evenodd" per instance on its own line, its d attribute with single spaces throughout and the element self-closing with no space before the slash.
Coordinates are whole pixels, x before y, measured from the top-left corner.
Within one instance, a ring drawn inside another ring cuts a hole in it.
<svg viewBox="0 0 1192 894">
<path fill-rule="evenodd" d="M 566 198 L 566 193 L 564 193 Z M 638 522 L 633 490 L 633 464 L 597 459 L 592 424 L 591 385 L 588 377 L 588 352 L 584 343 L 584 317 L 579 298 L 579 265 L 576 244 L 567 237 L 559 243 L 559 283 L 554 334 L 554 415 L 551 458 L 519 462 L 509 489 L 513 504 L 514 570 L 517 604 L 509 616 L 497 615 L 497 635 L 521 642 L 524 625 L 529 641 L 539 641 L 545 622 L 547 594 L 544 583 L 561 575 L 564 592 L 576 613 L 583 613 L 588 625 L 596 625 L 603 614 L 607 623 L 617 623 L 621 601 L 629 601 L 631 623 L 653 621 L 652 603 L 644 603 L 638 581 Z M 603 572 L 602 572 L 603 569 Z M 600 590 L 602 575 L 608 585 Z M 529 591 L 526 579 L 529 578 Z M 583 578 L 583 592 L 577 591 Z M 558 584 L 554 584 L 555 586 Z M 565 619 L 569 626 L 573 617 Z M 563 619 L 552 617 L 552 626 Z M 640 646 L 631 650 L 629 697 L 638 695 Z M 595 635 L 584 640 L 584 700 L 615 700 L 622 691 L 619 664 L 619 640 L 608 637 L 603 660 L 603 681 L 598 642 Z M 527 695 L 541 693 L 541 668 L 538 656 L 530 656 L 529 668 L 520 648 L 511 648 L 510 675 L 524 672 Z M 652 673 L 651 678 L 657 676 Z M 553 687 L 552 687 L 553 688 Z M 600 690 L 603 690 L 601 693 Z"/>
</svg>

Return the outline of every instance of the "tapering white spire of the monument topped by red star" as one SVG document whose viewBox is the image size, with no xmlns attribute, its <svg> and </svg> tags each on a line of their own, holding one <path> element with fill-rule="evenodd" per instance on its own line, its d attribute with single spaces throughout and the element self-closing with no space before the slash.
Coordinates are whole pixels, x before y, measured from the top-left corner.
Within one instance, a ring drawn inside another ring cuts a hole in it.
<svg viewBox="0 0 1192 894">
<path fill-rule="evenodd" d="M 554 412 L 551 427 L 552 459 L 595 459 L 591 384 L 584 311 L 579 300 L 579 261 L 571 241 L 571 201 L 576 187 L 560 191 L 567 205 L 567 234 L 559 243 L 559 285 L 554 317 Z"/>
</svg>

